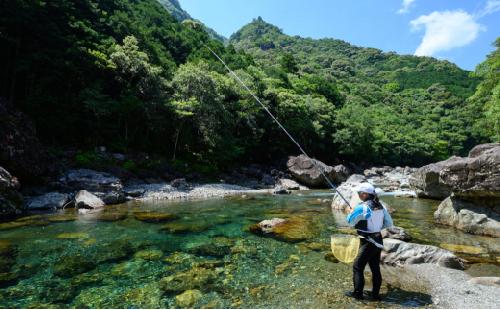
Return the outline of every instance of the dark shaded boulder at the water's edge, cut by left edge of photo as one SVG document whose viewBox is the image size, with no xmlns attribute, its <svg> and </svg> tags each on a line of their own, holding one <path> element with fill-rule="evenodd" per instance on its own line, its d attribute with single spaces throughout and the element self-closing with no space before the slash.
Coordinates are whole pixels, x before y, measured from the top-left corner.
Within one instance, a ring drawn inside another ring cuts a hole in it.
<svg viewBox="0 0 500 310">
<path fill-rule="evenodd" d="M 0 217 L 23 212 L 23 197 L 17 191 L 19 186 L 18 180 L 0 167 Z"/>
</svg>

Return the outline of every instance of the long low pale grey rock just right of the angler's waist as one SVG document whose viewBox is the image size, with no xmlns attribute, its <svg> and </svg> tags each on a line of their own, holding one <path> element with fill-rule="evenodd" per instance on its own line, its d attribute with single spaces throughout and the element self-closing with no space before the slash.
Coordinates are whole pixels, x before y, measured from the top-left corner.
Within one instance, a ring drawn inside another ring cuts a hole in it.
<svg viewBox="0 0 500 310">
<path fill-rule="evenodd" d="M 432 245 L 404 242 L 397 239 L 384 239 L 385 251 L 381 262 L 388 265 L 432 263 L 439 266 L 464 270 L 464 261 L 452 252 Z"/>
</svg>

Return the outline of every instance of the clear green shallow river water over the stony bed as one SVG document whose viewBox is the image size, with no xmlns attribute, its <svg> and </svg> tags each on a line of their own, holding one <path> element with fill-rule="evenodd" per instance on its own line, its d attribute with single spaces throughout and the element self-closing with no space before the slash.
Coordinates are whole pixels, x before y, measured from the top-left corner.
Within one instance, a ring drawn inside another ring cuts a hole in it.
<svg viewBox="0 0 500 310">
<path fill-rule="evenodd" d="M 322 202 L 325 198 L 326 193 L 308 192 L 128 203 L 97 215 L 75 216 L 67 210 L 0 224 L 0 307 L 428 307 L 428 295 L 387 285 L 382 303 L 343 296 L 352 288 L 352 265 L 325 260 L 337 226 L 329 203 Z M 386 201 L 397 209 L 396 224 L 409 229 L 418 242 L 462 242 L 486 251 L 474 257 L 491 260 L 499 255 L 494 239 L 436 228 L 435 202 Z M 136 218 L 140 211 L 176 218 L 144 222 Z M 249 225 L 272 217 L 299 218 L 312 236 L 287 243 L 248 232 Z M 475 272 L 497 270 L 484 266 Z M 176 301 L 185 289 L 197 289 L 201 296 L 194 303 Z"/>
</svg>

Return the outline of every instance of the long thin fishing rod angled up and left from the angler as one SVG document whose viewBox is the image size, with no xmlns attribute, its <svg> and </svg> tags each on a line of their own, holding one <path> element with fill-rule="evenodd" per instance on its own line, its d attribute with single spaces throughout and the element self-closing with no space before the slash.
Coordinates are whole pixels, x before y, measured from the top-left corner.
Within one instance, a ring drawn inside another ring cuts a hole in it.
<svg viewBox="0 0 500 310">
<path fill-rule="evenodd" d="M 271 113 L 271 111 L 269 111 L 269 109 L 260 101 L 259 97 L 257 97 L 251 90 L 250 88 L 248 88 L 248 86 L 240 79 L 240 77 L 238 75 L 236 75 L 236 73 L 234 73 L 233 70 L 231 70 L 231 68 L 228 67 L 228 65 L 226 64 L 226 62 L 224 60 L 222 60 L 222 58 L 219 57 L 219 55 L 217 55 L 216 52 L 214 52 L 208 45 L 206 44 L 203 44 L 223 65 L 224 67 L 226 68 L 226 70 L 236 79 L 236 81 L 238 81 L 241 86 L 243 86 L 243 88 L 246 89 L 246 91 L 255 99 L 255 101 L 257 101 L 260 106 L 267 112 L 267 114 L 269 114 L 269 116 L 274 120 L 274 122 L 276 122 L 276 124 L 278 124 L 278 126 L 283 130 L 283 132 L 285 132 L 285 134 L 288 136 L 288 138 L 290 138 L 290 140 L 299 148 L 300 152 L 307 157 L 307 159 L 309 159 L 309 161 L 312 162 L 312 164 L 314 165 L 314 167 L 316 169 L 319 170 L 319 172 L 321 173 L 321 175 L 323 176 L 323 178 L 325 178 L 326 182 L 328 183 L 328 185 L 332 188 L 332 190 L 340 196 L 340 198 L 342 198 L 342 200 L 350 207 L 351 205 L 349 204 L 349 202 L 347 201 L 347 199 L 345 199 L 344 196 L 342 196 L 342 194 L 337 190 L 337 187 L 335 187 L 335 185 L 333 185 L 332 181 L 330 180 L 330 178 L 328 178 L 328 176 L 324 173 L 323 169 L 318 165 L 318 163 L 316 162 L 316 160 L 314 159 L 311 159 L 311 157 L 309 157 L 309 155 L 307 155 L 306 151 L 304 151 L 304 149 L 302 148 L 302 146 L 297 142 L 297 140 L 295 140 L 295 138 L 288 132 L 288 130 L 286 130 L 286 128 L 278 121 L 278 119 L 273 115 L 273 113 Z"/>
</svg>

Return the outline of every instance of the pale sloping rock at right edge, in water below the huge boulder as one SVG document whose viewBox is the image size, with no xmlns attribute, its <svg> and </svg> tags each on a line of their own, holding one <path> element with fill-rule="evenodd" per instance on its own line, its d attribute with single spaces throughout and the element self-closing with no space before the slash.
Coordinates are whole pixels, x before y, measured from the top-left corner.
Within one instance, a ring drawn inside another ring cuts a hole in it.
<svg viewBox="0 0 500 310">
<path fill-rule="evenodd" d="M 434 219 L 468 233 L 500 237 L 500 204 L 496 200 L 469 202 L 451 196 L 441 202 Z"/>
</svg>

